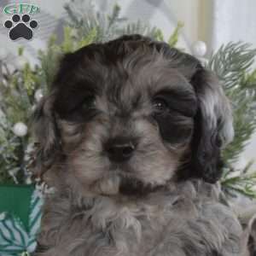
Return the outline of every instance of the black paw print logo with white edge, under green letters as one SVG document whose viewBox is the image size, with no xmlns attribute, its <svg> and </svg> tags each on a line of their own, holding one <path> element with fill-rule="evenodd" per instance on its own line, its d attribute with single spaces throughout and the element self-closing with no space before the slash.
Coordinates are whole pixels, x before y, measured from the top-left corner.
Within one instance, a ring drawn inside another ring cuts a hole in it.
<svg viewBox="0 0 256 256">
<path fill-rule="evenodd" d="M 6 20 L 3 24 L 9 30 L 9 38 L 16 40 L 25 38 L 30 40 L 33 37 L 33 30 L 38 27 L 38 21 L 30 20 L 29 15 L 13 15 L 12 20 Z"/>
</svg>

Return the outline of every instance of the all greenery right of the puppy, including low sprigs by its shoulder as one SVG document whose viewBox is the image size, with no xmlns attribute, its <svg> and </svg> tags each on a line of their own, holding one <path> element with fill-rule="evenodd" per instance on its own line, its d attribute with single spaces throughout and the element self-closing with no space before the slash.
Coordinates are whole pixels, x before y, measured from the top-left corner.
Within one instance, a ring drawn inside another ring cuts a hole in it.
<svg viewBox="0 0 256 256">
<path fill-rule="evenodd" d="M 256 174 L 250 170 L 252 162 L 248 162 L 243 170 L 236 170 L 234 166 L 256 128 L 255 55 L 256 49 L 251 49 L 249 44 L 230 43 L 221 46 L 208 62 L 208 67 L 218 75 L 232 103 L 234 117 L 235 137 L 223 152 L 222 185 L 226 191 L 236 190 L 254 198 Z"/>
</svg>

